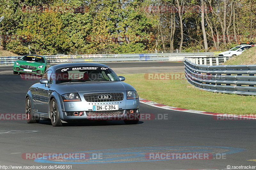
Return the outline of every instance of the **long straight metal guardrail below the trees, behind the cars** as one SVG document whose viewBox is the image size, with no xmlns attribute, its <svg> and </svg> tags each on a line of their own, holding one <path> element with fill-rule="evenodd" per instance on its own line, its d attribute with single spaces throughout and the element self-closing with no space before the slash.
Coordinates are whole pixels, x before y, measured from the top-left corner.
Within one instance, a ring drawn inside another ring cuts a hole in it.
<svg viewBox="0 0 256 170">
<path fill-rule="evenodd" d="M 96 55 L 43 55 L 50 63 L 110 62 L 110 61 L 184 61 L 184 57 L 218 56 L 220 52 L 206 53 L 150 53 L 150 54 L 96 54 Z M 0 65 L 13 64 L 18 57 L 0 57 Z"/>
</svg>

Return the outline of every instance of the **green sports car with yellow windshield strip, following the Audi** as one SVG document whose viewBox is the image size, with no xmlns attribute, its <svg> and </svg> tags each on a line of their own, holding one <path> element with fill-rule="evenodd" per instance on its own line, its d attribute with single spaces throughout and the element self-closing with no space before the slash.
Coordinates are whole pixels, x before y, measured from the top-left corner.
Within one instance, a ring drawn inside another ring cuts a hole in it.
<svg viewBox="0 0 256 170">
<path fill-rule="evenodd" d="M 34 73 L 43 75 L 44 71 L 50 66 L 51 64 L 47 63 L 47 60 L 43 56 L 25 55 L 20 60 L 14 62 L 13 74 Z"/>
</svg>

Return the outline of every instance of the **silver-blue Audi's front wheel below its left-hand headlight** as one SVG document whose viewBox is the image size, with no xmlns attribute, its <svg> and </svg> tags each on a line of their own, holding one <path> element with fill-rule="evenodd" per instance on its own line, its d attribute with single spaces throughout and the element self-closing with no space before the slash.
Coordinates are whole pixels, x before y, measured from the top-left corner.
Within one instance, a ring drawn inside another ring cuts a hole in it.
<svg viewBox="0 0 256 170">
<path fill-rule="evenodd" d="M 58 105 L 55 99 L 52 99 L 50 102 L 50 116 L 51 116 L 52 126 L 62 126 Z"/>
</svg>

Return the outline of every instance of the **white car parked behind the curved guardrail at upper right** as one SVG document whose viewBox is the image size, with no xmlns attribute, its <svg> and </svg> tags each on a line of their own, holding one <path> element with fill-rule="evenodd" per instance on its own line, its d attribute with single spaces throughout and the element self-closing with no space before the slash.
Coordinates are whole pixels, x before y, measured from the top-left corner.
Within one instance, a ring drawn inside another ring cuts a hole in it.
<svg viewBox="0 0 256 170">
<path fill-rule="evenodd" d="M 246 45 L 245 45 L 246 44 Z M 228 51 L 224 51 L 219 54 L 219 56 L 223 57 L 235 57 L 236 55 L 242 54 L 245 50 L 254 47 L 255 43 L 253 42 L 248 42 L 248 43 L 241 43 L 240 45 L 233 47 L 229 49 Z"/>
</svg>

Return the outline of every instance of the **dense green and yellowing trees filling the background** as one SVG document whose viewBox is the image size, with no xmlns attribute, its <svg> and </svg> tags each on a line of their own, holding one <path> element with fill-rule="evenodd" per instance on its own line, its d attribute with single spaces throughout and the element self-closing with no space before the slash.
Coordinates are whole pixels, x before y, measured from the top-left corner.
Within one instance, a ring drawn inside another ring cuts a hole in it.
<svg viewBox="0 0 256 170">
<path fill-rule="evenodd" d="M 224 50 L 256 33 L 256 0 L 0 2 L 1 45 L 19 55 Z"/>
</svg>

